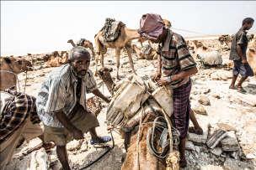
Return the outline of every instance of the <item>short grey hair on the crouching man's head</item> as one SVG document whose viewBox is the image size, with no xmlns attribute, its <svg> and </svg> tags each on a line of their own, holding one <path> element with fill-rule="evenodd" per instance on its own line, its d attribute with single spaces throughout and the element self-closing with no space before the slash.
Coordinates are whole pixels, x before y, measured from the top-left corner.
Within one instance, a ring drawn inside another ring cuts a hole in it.
<svg viewBox="0 0 256 170">
<path fill-rule="evenodd" d="M 76 59 L 81 59 L 81 57 L 88 57 L 90 58 L 90 54 L 88 52 L 87 49 L 85 49 L 84 47 L 82 46 L 77 46 L 77 47 L 74 47 L 70 50 L 70 53 L 68 55 L 68 60 L 70 62 L 76 60 Z"/>
</svg>

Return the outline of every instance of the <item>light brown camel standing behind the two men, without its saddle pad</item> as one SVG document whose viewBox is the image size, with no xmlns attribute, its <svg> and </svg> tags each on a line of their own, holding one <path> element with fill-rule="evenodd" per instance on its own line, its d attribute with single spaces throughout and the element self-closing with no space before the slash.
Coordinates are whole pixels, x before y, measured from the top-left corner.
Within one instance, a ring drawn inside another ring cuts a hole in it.
<svg viewBox="0 0 256 170">
<path fill-rule="evenodd" d="M 104 36 L 103 31 L 99 31 L 94 37 L 95 44 L 96 44 L 96 54 L 100 55 L 101 60 L 101 66 L 104 67 L 104 54 L 107 53 L 108 48 L 115 49 L 115 58 L 116 58 L 116 77 L 117 79 L 120 79 L 119 77 L 119 68 L 120 68 L 120 51 L 121 49 L 125 48 L 127 49 L 128 58 L 131 64 L 131 69 L 136 74 L 136 71 L 134 69 L 134 65 L 131 58 L 131 40 L 133 39 L 139 39 L 141 37 L 140 33 L 137 32 L 136 29 L 126 28 L 125 25 L 123 25 L 120 28 L 120 36 L 118 39 L 116 39 L 114 42 L 104 42 Z M 96 57 L 96 69 L 98 66 L 98 57 Z"/>
</svg>

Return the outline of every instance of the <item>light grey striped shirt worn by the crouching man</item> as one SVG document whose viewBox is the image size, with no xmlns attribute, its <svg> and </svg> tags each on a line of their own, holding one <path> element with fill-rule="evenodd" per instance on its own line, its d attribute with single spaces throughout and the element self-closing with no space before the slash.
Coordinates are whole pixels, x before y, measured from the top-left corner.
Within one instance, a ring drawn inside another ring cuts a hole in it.
<svg viewBox="0 0 256 170">
<path fill-rule="evenodd" d="M 93 73 L 88 73 L 82 78 L 81 96 L 77 101 L 77 75 L 70 64 L 52 70 L 45 82 L 41 85 L 36 99 L 36 106 L 40 120 L 46 126 L 63 127 L 56 118 L 56 111 L 63 111 L 69 116 L 77 102 L 86 108 L 86 93 L 97 88 Z"/>
</svg>

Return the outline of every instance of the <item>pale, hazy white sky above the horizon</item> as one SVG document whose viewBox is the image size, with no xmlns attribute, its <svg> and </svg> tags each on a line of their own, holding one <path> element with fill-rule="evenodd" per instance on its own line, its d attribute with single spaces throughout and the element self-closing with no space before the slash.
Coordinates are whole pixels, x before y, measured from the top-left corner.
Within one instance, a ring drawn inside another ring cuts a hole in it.
<svg viewBox="0 0 256 170">
<path fill-rule="evenodd" d="M 139 28 L 144 13 L 168 18 L 173 29 L 186 36 L 236 33 L 243 18 L 256 19 L 253 1 L 1 1 L 1 56 L 69 50 L 68 39 L 93 42 L 105 18 L 121 20 L 128 28 Z M 255 32 L 253 25 L 251 32 Z M 200 34 L 202 33 L 202 34 Z"/>
</svg>

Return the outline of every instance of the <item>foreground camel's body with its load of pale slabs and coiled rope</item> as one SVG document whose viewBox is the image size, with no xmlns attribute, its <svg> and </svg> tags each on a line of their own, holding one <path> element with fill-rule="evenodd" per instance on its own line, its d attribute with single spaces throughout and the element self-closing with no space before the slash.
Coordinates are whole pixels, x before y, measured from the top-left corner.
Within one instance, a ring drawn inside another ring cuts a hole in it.
<svg viewBox="0 0 256 170">
<path fill-rule="evenodd" d="M 137 75 L 119 85 L 106 85 L 113 94 L 106 119 L 125 137 L 122 170 L 179 169 L 179 131 L 169 119 L 173 91 Z"/>
</svg>

